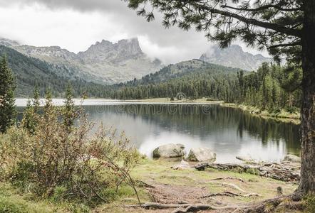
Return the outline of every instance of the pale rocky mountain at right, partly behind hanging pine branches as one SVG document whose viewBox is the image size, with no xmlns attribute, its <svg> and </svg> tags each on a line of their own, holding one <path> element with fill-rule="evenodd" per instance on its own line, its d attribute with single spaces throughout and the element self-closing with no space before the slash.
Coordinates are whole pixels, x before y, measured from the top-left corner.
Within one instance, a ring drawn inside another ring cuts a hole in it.
<svg viewBox="0 0 315 213">
<path fill-rule="evenodd" d="M 253 71 L 262 65 L 262 62 L 271 62 L 272 58 L 266 58 L 261 54 L 252 55 L 245 53 L 239 45 L 231 45 L 229 48 L 221 49 L 214 45 L 207 53 L 201 55 L 200 60 L 224 65 L 226 67 L 237 67 L 242 70 Z"/>
</svg>

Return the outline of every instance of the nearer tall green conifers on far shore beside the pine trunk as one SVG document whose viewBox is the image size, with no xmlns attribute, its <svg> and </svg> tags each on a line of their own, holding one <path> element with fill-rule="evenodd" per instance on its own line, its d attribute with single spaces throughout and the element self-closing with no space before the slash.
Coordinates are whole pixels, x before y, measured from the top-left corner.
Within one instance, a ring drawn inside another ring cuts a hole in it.
<svg viewBox="0 0 315 213">
<path fill-rule="evenodd" d="M 299 72 L 299 71 L 294 71 Z M 286 79 L 286 68 L 277 65 L 264 63 L 257 72 L 249 75 L 239 73 L 239 97 L 237 103 L 246 104 L 259 109 L 280 112 L 297 111 L 301 107 L 301 90 L 288 90 L 284 88 L 283 82 Z"/>
</svg>

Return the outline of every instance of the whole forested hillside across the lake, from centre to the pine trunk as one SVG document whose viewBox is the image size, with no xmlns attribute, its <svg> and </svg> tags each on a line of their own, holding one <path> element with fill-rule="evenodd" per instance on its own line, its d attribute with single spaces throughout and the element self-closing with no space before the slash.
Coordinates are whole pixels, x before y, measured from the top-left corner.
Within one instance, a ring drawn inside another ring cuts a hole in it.
<svg viewBox="0 0 315 213">
<path fill-rule="evenodd" d="M 244 72 L 190 60 L 164 67 L 141 80 L 108 86 L 105 96 L 113 99 L 207 97 L 270 111 L 296 111 L 301 104 L 300 80 L 301 70 L 267 62 L 257 72 Z"/>
</svg>

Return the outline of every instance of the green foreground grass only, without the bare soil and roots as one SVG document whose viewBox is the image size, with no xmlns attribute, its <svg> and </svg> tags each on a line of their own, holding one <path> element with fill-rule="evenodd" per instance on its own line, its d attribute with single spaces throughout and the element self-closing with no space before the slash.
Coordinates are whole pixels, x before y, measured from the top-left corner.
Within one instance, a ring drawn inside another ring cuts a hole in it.
<svg viewBox="0 0 315 213">
<path fill-rule="evenodd" d="M 270 178 L 260 178 L 249 173 L 237 173 L 231 171 L 205 170 L 173 170 L 170 167 L 177 163 L 167 160 L 143 159 L 133 170 L 132 176 L 135 180 L 142 180 L 149 184 L 166 184 L 170 187 L 189 186 L 204 187 L 205 193 L 230 192 L 239 193 L 229 185 L 237 185 L 248 193 L 258 193 L 259 197 L 218 197 L 222 202 L 239 204 L 265 200 L 277 195 L 277 187 L 281 186 L 284 194 L 294 192 L 297 185 L 292 182 L 281 182 Z M 239 180 L 212 180 L 215 178 L 234 177 Z M 152 202 L 151 196 L 143 187 L 137 187 L 141 202 Z M 62 189 L 61 189 L 62 191 Z M 115 194 L 115 196 L 111 195 Z M 114 189 L 108 190 L 108 196 L 115 197 L 108 204 L 100 204 L 97 207 L 87 207 L 79 201 L 67 201 L 51 197 L 49 200 L 40 200 L 33 195 L 21 194 L 12 185 L 0 184 L 0 212 L 145 212 L 144 209 L 124 209 L 125 204 L 137 204 L 135 192 L 128 185 L 119 187 L 118 192 Z M 313 200 L 314 201 L 314 200 Z M 313 202 L 311 202 L 313 203 Z M 309 208 L 313 206 L 310 205 Z"/>
</svg>

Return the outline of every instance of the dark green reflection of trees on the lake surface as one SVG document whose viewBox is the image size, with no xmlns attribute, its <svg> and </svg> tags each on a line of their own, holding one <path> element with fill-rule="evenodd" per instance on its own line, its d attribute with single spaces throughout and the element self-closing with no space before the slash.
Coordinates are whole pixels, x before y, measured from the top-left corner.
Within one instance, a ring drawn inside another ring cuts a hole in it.
<svg viewBox="0 0 315 213">
<path fill-rule="evenodd" d="M 262 141 L 279 143 L 284 140 L 290 153 L 299 153 L 299 126 L 273 119 L 262 119 L 240 109 L 220 107 L 218 105 L 182 105 L 182 104 L 126 104 L 120 106 L 85 107 L 91 113 L 124 114 L 133 119 L 141 118 L 148 124 L 159 125 L 180 133 L 190 132 L 205 139 L 213 133 L 235 131 L 243 138 L 244 131 L 249 136 Z"/>
</svg>

